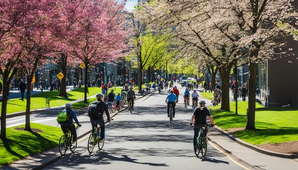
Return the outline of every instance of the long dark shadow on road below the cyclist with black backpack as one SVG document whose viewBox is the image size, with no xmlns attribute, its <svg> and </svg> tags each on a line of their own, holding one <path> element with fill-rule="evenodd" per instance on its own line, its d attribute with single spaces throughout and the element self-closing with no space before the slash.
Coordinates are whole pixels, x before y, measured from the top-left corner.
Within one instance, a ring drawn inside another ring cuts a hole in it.
<svg viewBox="0 0 298 170">
<path fill-rule="evenodd" d="M 86 155 L 85 155 L 86 156 Z M 112 155 L 109 155 L 108 152 L 101 152 L 97 151 L 96 154 L 91 154 L 90 157 L 98 157 L 98 161 L 103 160 L 104 158 L 109 159 L 109 160 L 115 160 L 115 161 L 125 161 L 125 162 L 131 162 L 131 163 L 138 163 L 138 164 L 144 164 L 144 165 L 150 165 L 150 166 L 168 166 L 165 163 L 141 163 L 141 162 L 136 162 L 137 159 L 132 159 L 128 157 L 127 155 L 121 155 L 122 157 L 115 157 Z"/>
</svg>

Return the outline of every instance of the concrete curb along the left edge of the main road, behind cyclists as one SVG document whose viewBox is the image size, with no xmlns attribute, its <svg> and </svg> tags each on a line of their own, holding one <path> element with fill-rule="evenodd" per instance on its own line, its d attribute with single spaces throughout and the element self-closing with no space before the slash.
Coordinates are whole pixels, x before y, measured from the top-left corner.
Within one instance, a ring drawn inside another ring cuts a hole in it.
<svg viewBox="0 0 298 170">
<path fill-rule="evenodd" d="M 135 100 L 138 100 L 138 99 L 141 99 L 141 98 L 143 98 L 143 97 L 145 97 L 145 96 L 148 96 L 148 94 L 150 94 L 148 97 L 150 97 L 151 95 L 153 95 L 155 92 L 156 92 L 157 90 L 155 90 L 155 91 L 152 91 L 152 93 L 146 93 L 145 95 L 143 95 L 143 96 L 141 96 L 141 97 L 138 97 L 138 98 L 136 98 Z M 147 97 L 147 98 L 148 98 Z M 146 98 L 146 99 L 147 99 Z M 146 100 L 146 99 L 144 99 L 144 100 Z M 63 106 L 64 107 L 64 106 Z M 122 112 L 122 111 L 124 111 L 124 110 L 126 110 L 126 108 L 124 108 L 124 109 L 121 109 L 121 110 L 119 110 L 119 112 Z M 113 118 L 114 116 L 116 116 L 119 112 L 117 112 L 117 113 L 114 113 L 113 115 L 111 115 L 111 118 Z M 105 120 L 105 124 L 107 124 L 108 123 L 108 120 L 106 119 Z M 77 140 L 79 140 L 80 138 L 83 138 L 84 136 L 86 136 L 86 135 L 88 135 L 89 133 L 91 133 L 92 132 L 92 130 L 88 130 L 88 131 L 86 131 L 86 132 L 84 132 L 83 134 L 81 134 L 81 135 L 79 135 L 79 136 L 77 136 Z M 41 152 L 42 153 L 42 152 Z M 70 154 L 72 154 L 73 152 L 71 152 L 71 153 L 69 153 L 69 154 L 66 154 L 66 155 L 70 155 Z M 65 155 L 64 155 L 65 156 Z M 30 168 L 28 168 L 28 170 L 29 169 L 31 169 L 31 170 L 40 170 L 40 169 L 42 169 L 42 168 L 44 168 L 44 167 L 46 167 L 46 166 L 48 166 L 48 165 L 50 165 L 50 164 L 52 164 L 52 163 L 54 163 L 56 160 L 59 160 L 61 157 L 63 157 L 62 155 L 57 155 L 57 157 L 54 157 L 54 158 L 52 158 L 51 160 L 48 160 L 48 161 L 46 161 L 46 162 L 44 162 L 44 163 L 41 163 L 40 165 L 36 165 L 36 166 L 33 166 L 33 167 L 30 167 Z"/>
</svg>

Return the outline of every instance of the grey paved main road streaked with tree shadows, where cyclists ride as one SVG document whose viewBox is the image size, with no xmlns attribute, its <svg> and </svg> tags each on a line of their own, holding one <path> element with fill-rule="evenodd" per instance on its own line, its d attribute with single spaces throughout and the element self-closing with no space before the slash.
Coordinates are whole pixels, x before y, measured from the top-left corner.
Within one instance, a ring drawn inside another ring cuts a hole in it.
<svg viewBox="0 0 298 170">
<path fill-rule="evenodd" d="M 105 150 L 95 147 L 89 154 L 85 140 L 76 152 L 44 169 L 242 169 L 210 144 L 206 158 L 197 158 L 189 125 L 192 109 L 184 109 L 180 96 L 176 117 L 170 124 L 165 97 L 165 91 L 155 93 L 136 102 L 133 114 L 124 111 L 115 116 L 106 127 Z"/>
</svg>

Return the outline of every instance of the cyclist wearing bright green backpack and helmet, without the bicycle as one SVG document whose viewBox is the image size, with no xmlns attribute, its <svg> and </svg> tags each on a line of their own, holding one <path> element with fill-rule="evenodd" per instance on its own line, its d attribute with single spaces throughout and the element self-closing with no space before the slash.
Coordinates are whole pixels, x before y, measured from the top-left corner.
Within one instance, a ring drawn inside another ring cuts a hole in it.
<svg viewBox="0 0 298 170">
<path fill-rule="evenodd" d="M 73 135 L 73 142 L 77 140 L 77 131 L 76 127 L 73 124 L 73 120 L 75 120 L 75 123 L 78 127 L 81 127 L 82 125 L 77 120 L 77 116 L 75 115 L 75 111 L 72 110 L 72 104 L 66 103 L 65 109 L 59 112 L 59 115 L 57 117 L 57 122 L 61 125 L 61 129 L 63 133 L 67 133 L 67 130 L 69 130 Z"/>
</svg>

